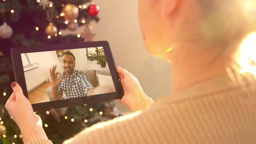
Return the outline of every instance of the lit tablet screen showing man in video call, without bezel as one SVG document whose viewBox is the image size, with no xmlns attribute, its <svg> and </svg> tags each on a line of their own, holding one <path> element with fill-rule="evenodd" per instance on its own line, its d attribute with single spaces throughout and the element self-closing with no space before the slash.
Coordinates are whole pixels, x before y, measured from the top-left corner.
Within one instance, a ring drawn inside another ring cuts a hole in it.
<svg viewBox="0 0 256 144">
<path fill-rule="evenodd" d="M 116 92 L 103 47 L 21 53 L 31 104 Z"/>
</svg>

